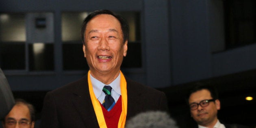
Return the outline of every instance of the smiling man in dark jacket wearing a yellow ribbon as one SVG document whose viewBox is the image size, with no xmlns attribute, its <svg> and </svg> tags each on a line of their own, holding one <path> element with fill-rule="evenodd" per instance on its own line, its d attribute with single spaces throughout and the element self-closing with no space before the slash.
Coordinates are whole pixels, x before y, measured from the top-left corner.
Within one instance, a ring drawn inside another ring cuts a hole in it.
<svg viewBox="0 0 256 128">
<path fill-rule="evenodd" d="M 46 94 L 41 128 L 124 128 L 138 113 L 168 111 L 163 92 L 120 71 L 128 33 L 126 20 L 111 11 L 94 11 L 85 18 L 81 37 L 89 72 Z"/>
</svg>

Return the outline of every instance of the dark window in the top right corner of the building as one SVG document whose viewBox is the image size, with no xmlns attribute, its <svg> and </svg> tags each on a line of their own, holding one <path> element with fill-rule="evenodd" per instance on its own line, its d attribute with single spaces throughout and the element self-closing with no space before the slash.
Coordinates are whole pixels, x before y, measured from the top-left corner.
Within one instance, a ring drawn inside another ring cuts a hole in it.
<svg viewBox="0 0 256 128">
<path fill-rule="evenodd" d="M 224 0 L 226 49 L 256 43 L 256 0 Z"/>
</svg>

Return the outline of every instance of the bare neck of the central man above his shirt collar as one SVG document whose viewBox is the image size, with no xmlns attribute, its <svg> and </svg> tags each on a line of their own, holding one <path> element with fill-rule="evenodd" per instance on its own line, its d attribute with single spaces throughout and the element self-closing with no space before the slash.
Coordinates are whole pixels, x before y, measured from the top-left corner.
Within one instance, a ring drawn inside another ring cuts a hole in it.
<svg viewBox="0 0 256 128">
<path fill-rule="evenodd" d="M 120 74 L 120 70 L 115 72 L 93 72 L 91 71 L 91 76 L 93 76 L 95 79 L 99 80 L 100 82 L 109 85 L 111 82 L 113 82 L 117 76 Z"/>
</svg>

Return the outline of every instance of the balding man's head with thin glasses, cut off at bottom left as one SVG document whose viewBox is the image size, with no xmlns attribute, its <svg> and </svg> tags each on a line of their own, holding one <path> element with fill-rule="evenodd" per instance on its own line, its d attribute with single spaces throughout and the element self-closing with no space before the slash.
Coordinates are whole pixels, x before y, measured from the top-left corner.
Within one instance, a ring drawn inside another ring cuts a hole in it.
<svg viewBox="0 0 256 128">
<path fill-rule="evenodd" d="M 4 128 L 34 128 L 35 109 L 25 100 L 15 100 L 15 105 L 2 121 Z"/>
</svg>

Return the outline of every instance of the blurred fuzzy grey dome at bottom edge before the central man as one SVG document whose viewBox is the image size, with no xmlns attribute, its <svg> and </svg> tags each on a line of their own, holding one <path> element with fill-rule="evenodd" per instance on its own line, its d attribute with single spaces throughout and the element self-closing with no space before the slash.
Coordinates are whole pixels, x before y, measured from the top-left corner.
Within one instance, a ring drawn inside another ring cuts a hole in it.
<svg viewBox="0 0 256 128">
<path fill-rule="evenodd" d="M 168 113 L 148 111 L 129 119 L 126 128 L 178 128 L 178 126 Z"/>
</svg>

